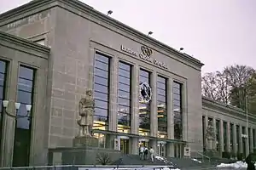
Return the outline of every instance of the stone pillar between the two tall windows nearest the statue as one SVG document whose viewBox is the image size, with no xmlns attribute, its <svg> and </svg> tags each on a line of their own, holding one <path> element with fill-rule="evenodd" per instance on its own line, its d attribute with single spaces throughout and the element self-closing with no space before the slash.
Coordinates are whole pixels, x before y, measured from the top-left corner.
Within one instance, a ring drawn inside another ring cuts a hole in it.
<svg viewBox="0 0 256 170">
<path fill-rule="evenodd" d="M 118 112 L 118 72 L 119 72 L 119 59 L 113 57 L 110 64 L 110 85 L 109 85 L 109 125 L 108 130 L 117 131 L 117 112 Z"/>
</svg>

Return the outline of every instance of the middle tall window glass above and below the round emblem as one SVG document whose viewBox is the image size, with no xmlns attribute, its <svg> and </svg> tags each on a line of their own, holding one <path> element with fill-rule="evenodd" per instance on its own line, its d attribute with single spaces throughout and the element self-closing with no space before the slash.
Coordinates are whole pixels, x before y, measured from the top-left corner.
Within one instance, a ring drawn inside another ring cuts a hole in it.
<svg viewBox="0 0 256 170">
<path fill-rule="evenodd" d="M 139 84 L 143 82 L 150 84 L 150 72 L 141 69 Z M 150 133 L 150 103 L 151 101 L 139 104 L 139 135 L 147 136 Z"/>
</svg>

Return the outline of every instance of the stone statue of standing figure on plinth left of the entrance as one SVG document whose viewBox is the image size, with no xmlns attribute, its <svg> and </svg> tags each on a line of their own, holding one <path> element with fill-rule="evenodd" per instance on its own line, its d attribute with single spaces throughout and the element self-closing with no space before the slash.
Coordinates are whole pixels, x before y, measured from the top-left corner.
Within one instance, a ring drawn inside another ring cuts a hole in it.
<svg viewBox="0 0 256 170">
<path fill-rule="evenodd" d="M 79 101 L 79 137 L 92 136 L 95 101 L 92 97 L 92 90 L 86 90 L 85 98 Z"/>
</svg>

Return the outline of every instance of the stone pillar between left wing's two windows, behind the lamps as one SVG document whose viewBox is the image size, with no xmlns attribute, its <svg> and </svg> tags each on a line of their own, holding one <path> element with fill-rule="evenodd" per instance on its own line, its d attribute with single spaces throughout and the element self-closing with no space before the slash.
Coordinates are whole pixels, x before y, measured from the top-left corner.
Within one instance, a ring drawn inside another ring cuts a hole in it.
<svg viewBox="0 0 256 170">
<path fill-rule="evenodd" d="M 15 101 L 17 92 L 17 77 L 18 62 L 12 61 L 9 65 L 9 74 L 12 75 L 7 81 L 6 99 L 9 100 L 9 105 L 7 111 L 11 114 L 15 114 Z M 2 105 L 2 104 L 1 104 Z M 15 119 L 10 116 L 3 116 L 3 131 L 2 131 L 2 142 L 1 142 L 1 166 L 2 167 L 12 167 L 13 152 L 14 152 L 14 140 L 15 140 Z"/>
</svg>

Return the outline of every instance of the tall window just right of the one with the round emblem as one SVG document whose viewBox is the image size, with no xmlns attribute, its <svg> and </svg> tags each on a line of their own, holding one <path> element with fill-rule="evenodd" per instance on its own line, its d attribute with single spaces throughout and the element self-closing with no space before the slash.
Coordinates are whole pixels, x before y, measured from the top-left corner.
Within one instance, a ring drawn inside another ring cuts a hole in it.
<svg viewBox="0 0 256 170">
<path fill-rule="evenodd" d="M 157 77 L 158 137 L 167 137 L 167 86 L 166 78 Z"/>
</svg>

